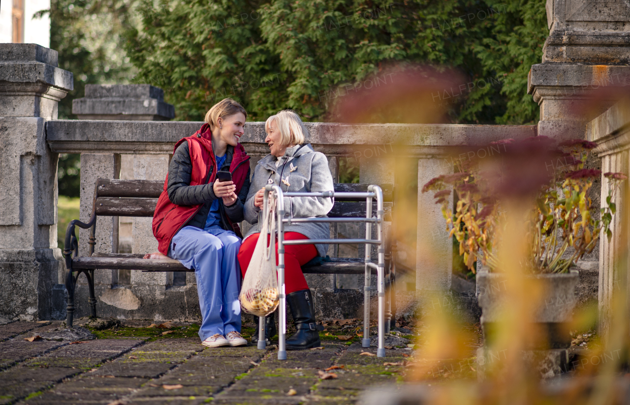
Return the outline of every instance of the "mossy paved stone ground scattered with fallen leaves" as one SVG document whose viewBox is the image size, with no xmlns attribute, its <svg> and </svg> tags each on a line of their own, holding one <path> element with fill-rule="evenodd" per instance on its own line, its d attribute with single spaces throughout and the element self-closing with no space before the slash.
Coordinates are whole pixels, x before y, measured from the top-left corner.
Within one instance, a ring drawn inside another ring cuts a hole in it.
<svg viewBox="0 0 630 405">
<path fill-rule="evenodd" d="M 400 347 L 385 358 L 360 355 L 376 350 L 323 336 L 330 339 L 323 349 L 289 352 L 280 361 L 274 345 L 204 348 L 192 326 L 162 335 L 147 322 L 93 330 L 97 339 L 83 343 L 24 340 L 60 324 L 0 326 L 0 405 L 353 404 L 367 387 L 401 382 L 411 353 Z M 321 379 L 331 366 L 337 378 Z"/>
</svg>

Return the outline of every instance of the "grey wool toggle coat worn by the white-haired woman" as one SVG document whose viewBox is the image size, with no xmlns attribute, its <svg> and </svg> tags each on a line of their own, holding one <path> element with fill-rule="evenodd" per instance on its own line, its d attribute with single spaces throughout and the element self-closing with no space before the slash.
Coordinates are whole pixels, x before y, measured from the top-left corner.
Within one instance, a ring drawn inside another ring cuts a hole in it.
<svg viewBox="0 0 630 405">
<path fill-rule="evenodd" d="M 315 152 L 310 143 L 287 148 L 276 167 L 276 157 L 266 155 L 256 165 L 251 186 L 245 201 L 244 215 L 252 225 L 258 223 L 260 208 L 254 205 L 256 192 L 267 184 L 277 184 L 282 191 L 314 192 L 333 190 L 333 176 L 328 168 L 328 159 L 321 152 Z M 282 174 L 282 180 L 280 180 Z M 289 184 L 287 186 L 287 183 Z M 292 218 L 326 217 L 335 203 L 330 197 L 284 197 L 285 216 Z M 298 232 L 309 239 L 329 239 L 328 223 L 299 223 L 285 225 L 285 232 Z M 253 226 L 245 238 L 259 233 L 258 226 Z M 325 257 L 328 245 L 315 245 L 320 256 Z"/>
</svg>

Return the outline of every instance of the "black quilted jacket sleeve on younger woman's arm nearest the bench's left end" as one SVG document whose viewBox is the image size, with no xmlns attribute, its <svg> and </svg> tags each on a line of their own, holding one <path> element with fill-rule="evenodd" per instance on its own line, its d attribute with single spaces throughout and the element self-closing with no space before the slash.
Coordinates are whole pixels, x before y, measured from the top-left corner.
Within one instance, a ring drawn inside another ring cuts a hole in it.
<svg viewBox="0 0 630 405">
<path fill-rule="evenodd" d="M 217 199 L 214 195 L 213 183 L 190 186 L 192 177 L 192 161 L 188 142 L 182 143 L 173 154 L 168 166 L 168 199 L 171 203 L 183 206 L 203 204 Z"/>
</svg>

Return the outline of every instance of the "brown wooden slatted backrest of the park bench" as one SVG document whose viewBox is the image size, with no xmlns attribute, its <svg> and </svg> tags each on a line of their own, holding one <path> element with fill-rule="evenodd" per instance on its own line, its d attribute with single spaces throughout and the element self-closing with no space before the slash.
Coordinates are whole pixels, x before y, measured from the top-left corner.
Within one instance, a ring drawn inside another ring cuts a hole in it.
<svg viewBox="0 0 630 405">
<path fill-rule="evenodd" d="M 335 192 L 365 192 L 367 184 L 335 183 Z M 381 184 L 384 210 L 391 214 L 393 187 Z M 163 180 L 96 180 L 94 209 L 100 216 L 153 216 L 157 199 L 164 188 Z M 376 213 L 376 203 L 372 208 Z M 365 216 L 364 199 L 340 199 L 335 197 L 335 206 L 328 216 L 331 218 Z"/>
</svg>

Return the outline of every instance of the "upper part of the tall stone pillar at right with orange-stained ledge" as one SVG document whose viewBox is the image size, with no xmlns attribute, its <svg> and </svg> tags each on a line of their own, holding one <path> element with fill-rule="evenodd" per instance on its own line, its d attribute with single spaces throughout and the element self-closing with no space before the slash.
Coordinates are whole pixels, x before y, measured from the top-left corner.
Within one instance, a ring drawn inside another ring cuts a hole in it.
<svg viewBox="0 0 630 405">
<path fill-rule="evenodd" d="M 630 84 L 630 4 L 547 0 L 549 37 L 528 91 L 541 108 L 539 135 L 584 138 L 590 119 L 614 104 L 602 87 Z M 593 95 L 597 101 L 593 101 Z"/>
</svg>

